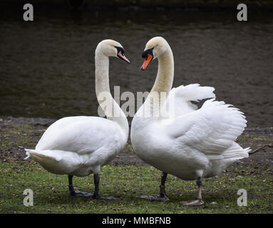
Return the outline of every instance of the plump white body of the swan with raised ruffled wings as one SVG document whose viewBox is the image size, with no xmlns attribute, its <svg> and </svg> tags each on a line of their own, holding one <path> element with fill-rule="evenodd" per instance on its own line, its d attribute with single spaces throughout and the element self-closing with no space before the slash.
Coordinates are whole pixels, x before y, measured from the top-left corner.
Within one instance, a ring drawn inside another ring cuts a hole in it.
<svg viewBox="0 0 273 228">
<path fill-rule="evenodd" d="M 133 149 L 140 159 L 182 180 L 213 177 L 248 157 L 249 148 L 234 142 L 245 120 L 224 103 L 207 100 L 202 108 L 180 115 L 171 124 L 149 122 L 141 117 L 133 120 Z"/>
</svg>

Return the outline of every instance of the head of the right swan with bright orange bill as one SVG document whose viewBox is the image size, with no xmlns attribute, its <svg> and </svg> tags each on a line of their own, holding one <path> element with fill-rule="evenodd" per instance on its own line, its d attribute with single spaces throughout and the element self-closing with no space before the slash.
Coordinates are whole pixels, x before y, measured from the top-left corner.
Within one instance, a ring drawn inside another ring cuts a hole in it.
<svg viewBox="0 0 273 228">
<path fill-rule="evenodd" d="M 146 43 L 145 49 L 142 53 L 142 57 L 145 58 L 141 70 L 145 70 L 149 63 L 155 58 L 163 55 L 168 50 L 168 42 L 161 36 L 155 36 Z"/>
</svg>

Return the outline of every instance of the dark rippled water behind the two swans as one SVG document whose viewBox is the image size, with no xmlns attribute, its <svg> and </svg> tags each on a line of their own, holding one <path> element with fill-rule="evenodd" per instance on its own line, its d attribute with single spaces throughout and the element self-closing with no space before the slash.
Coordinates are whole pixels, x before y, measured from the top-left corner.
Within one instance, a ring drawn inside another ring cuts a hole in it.
<svg viewBox="0 0 273 228">
<path fill-rule="evenodd" d="M 110 59 L 110 86 L 120 92 L 149 91 L 157 63 L 140 71 L 141 53 L 163 36 L 175 57 L 174 86 L 214 86 L 218 100 L 240 108 L 249 127 L 273 126 L 273 16 L 236 11 L 152 12 L 1 9 L 0 115 L 61 118 L 97 115 L 94 51 L 99 41 L 123 44 L 128 65 Z M 273 14 L 272 14 L 273 15 Z"/>
</svg>

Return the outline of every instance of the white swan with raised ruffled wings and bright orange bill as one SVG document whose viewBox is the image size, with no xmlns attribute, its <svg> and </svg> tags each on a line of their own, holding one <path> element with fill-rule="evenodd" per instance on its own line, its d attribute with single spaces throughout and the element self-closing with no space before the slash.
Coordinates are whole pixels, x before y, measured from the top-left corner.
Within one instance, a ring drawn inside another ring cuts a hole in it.
<svg viewBox="0 0 273 228">
<path fill-rule="evenodd" d="M 203 204 L 202 177 L 213 177 L 232 162 L 248 157 L 249 148 L 243 149 L 235 142 L 247 121 L 242 112 L 222 101 L 207 100 L 200 109 L 190 103 L 215 98 L 212 87 L 193 84 L 171 90 L 174 62 L 164 38 L 150 39 L 143 58 L 143 70 L 158 58 L 158 76 L 133 118 L 130 138 L 138 157 L 163 172 L 159 195 L 143 198 L 168 200 L 165 180 L 170 173 L 182 180 L 197 180 L 197 200 L 182 204 Z M 167 109 L 166 103 L 174 103 L 175 107 Z M 164 112 L 168 116 L 163 116 Z"/>
</svg>

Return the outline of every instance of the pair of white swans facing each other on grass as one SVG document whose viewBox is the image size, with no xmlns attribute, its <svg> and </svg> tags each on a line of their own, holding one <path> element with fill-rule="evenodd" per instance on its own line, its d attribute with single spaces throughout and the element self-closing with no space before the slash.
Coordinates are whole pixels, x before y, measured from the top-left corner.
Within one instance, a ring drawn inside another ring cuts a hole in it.
<svg viewBox="0 0 273 228">
<path fill-rule="evenodd" d="M 49 172 L 68 175 L 71 195 L 100 198 L 101 166 L 113 160 L 128 140 L 128 120 L 110 95 L 109 56 L 130 61 L 124 56 L 123 46 L 116 41 L 101 41 L 96 48 L 96 95 L 99 97 L 101 93 L 106 93 L 110 97 L 106 106 L 113 107 L 119 115 L 113 117 L 98 99 L 107 119 L 86 116 L 62 118 L 46 130 L 35 150 L 26 149 L 26 154 Z M 164 38 L 150 39 L 143 58 L 143 70 L 158 58 L 158 76 L 151 93 L 133 118 L 130 137 L 138 157 L 163 172 L 159 194 L 144 195 L 143 198 L 168 200 L 165 181 L 169 173 L 182 180 L 197 180 L 197 200 L 182 204 L 203 204 L 202 177 L 213 177 L 232 162 L 248 157 L 249 148 L 243 149 L 235 142 L 247 121 L 237 108 L 216 101 L 212 87 L 191 84 L 172 88 L 173 56 Z M 206 98 L 212 99 L 200 109 L 191 103 Z M 73 175 L 83 177 L 91 173 L 94 175 L 94 193 L 75 191 Z"/>
</svg>

